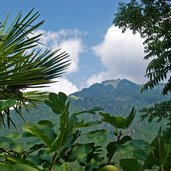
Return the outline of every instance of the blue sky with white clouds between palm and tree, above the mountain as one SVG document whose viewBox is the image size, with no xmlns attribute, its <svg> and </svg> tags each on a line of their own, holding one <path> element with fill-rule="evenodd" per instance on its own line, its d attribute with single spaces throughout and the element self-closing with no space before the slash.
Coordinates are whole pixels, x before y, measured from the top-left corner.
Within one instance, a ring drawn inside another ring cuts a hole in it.
<svg viewBox="0 0 171 171">
<path fill-rule="evenodd" d="M 128 2 L 128 0 L 123 0 Z M 19 11 L 39 11 L 45 24 L 37 32 L 44 34 L 46 48 L 62 48 L 72 64 L 67 73 L 49 91 L 70 94 L 93 83 L 108 79 L 144 82 L 147 62 L 139 35 L 122 33 L 112 25 L 119 0 L 1 0 L 0 16 L 10 18 Z M 45 47 L 43 47 L 45 48 Z"/>
</svg>

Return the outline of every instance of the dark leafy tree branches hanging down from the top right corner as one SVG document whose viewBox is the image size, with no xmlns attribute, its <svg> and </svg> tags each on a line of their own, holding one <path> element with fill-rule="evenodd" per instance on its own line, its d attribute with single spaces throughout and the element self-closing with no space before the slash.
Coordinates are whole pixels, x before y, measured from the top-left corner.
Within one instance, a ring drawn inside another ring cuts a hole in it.
<svg viewBox="0 0 171 171">
<path fill-rule="evenodd" d="M 131 0 L 120 3 L 114 24 L 140 33 L 144 38 L 145 59 L 150 59 L 146 69 L 149 81 L 143 90 L 153 88 L 160 81 L 169 77 L 163 94 L 171 90 L 169 76 L 171 59 L 171 2 L 170 0 Z"/>
</svg>

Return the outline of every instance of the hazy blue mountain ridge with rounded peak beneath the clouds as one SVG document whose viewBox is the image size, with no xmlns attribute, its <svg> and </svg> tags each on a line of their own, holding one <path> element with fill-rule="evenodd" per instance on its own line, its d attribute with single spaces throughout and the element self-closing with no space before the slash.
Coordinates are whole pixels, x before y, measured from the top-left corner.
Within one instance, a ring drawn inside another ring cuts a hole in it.
<svg viewBox="0 0 171 171">
<path fill-rule="evenodd" d="M 133 106 L 141 109 L 144 106 L 164 101 L 169 97 L 161 94 L 163 85 L 141 93 L 142 85 L 129 80 L 108 80 L 96 83 L 89 88 L 73 93 L 73 106 L 89 109 L 94 106 L 102 107 L 105 112 L 121 114 L 128 112 Z"/>
</svg>

